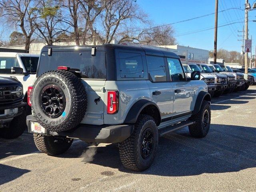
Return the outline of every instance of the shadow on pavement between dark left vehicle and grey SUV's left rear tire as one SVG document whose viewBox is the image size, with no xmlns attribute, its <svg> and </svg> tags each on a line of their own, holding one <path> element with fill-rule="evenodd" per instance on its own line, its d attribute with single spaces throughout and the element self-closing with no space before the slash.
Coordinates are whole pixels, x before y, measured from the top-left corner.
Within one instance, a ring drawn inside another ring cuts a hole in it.
<svg viewBox="0 0 256 192">
<path fill-rule="evenodd" d="M 13 155 L 24 155 L 37 151 L 33 134 L 22 134 L 15 139 L 0 138 L 0 160 Z"/>
</svg>

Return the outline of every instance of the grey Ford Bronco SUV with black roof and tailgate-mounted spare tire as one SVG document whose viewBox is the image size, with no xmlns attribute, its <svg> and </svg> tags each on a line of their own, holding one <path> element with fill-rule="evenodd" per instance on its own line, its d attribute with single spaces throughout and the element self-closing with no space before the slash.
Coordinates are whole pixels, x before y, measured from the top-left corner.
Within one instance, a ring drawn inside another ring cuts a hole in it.
<svg viewBox="0 0 256 192">
<path fill-rule="evenodd" d="M 45 46 L 37 79 L 28 88 L 29 132 L 49 155 L 66 152 L 74 138 L 118 143 L 122 164 L 150 167 L 158 137 L 188 126 L 202 138 L 210 128 L 211 96 L 200 72 L 186 77 L 178 55 L 106 44 Z"/>
</svg>

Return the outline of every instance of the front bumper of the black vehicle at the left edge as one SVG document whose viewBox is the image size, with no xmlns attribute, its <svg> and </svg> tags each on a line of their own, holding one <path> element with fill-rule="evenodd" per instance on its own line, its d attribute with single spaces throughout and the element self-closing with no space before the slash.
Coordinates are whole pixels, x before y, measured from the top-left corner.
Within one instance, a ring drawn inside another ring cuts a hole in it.
<svg viewBox="0 0 256 192">
<path fill-rule="evenodd" d="M 0 106 L 0 124 L 11 122 L 14 117 L 22 114 L 25 108 L 25 102 Z"/>
</svg>

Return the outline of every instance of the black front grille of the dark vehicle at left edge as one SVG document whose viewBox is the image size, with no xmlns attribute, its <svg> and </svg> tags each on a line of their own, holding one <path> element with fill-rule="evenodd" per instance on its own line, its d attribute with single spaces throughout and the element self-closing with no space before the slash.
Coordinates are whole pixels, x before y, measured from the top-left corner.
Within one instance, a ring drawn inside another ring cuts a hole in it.
<svg viewBox="0 0 256 192">
<path fill-rule="evenodd" d="M 11 104 L 15 102 L 20 102 L 22 96 L 16 96 L 16 93 L 11 93 L 16 91 L 16 86 L 2 86 L 0 87 L 0 104 Z"/>
</svg>

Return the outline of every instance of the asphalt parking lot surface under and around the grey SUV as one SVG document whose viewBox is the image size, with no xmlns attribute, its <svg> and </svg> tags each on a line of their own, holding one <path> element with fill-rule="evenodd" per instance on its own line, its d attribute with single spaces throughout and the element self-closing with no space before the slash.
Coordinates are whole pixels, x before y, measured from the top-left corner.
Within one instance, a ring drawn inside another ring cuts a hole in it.
<svg viewBox="0 0 256 192">
<path fill-rule="evenodd" d="M 0 139 L 0 192 L 256 191 L 256 86 L 213 99 L 211 109 L 205 138 L 188 128 L 160 138 L 144 172 L 123 168 L 116 144 L 76 140 L 53 157 L 38 152 L 31 134 Z"/>
</svg>

